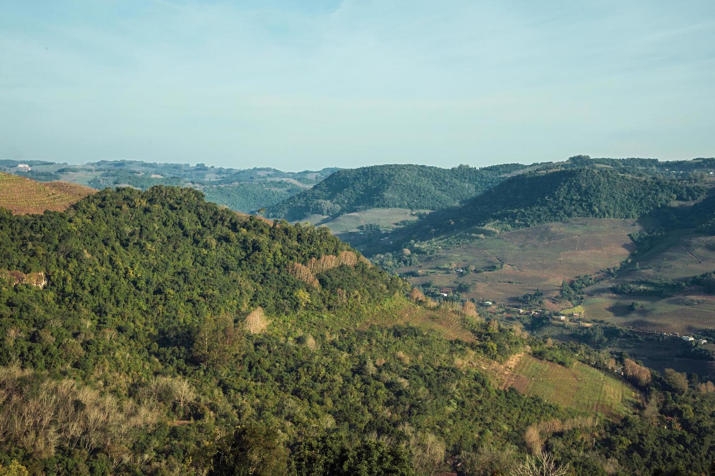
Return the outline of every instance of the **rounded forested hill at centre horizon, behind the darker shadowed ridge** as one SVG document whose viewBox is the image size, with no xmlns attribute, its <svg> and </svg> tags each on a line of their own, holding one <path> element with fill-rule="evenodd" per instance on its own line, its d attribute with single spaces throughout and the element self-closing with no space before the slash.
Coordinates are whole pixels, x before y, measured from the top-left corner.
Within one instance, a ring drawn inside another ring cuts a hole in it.
<svg viewBox="0 0 715 476">
<path fill-rule="evenodd" d="M 437 210 L 454 206 L 503 181 L 521 164 L 485 168 L 385 165 L 337 171 L 310 190 L 269 207 L 267 216 L 300 220 L 368 208 Z"/>
</svg>

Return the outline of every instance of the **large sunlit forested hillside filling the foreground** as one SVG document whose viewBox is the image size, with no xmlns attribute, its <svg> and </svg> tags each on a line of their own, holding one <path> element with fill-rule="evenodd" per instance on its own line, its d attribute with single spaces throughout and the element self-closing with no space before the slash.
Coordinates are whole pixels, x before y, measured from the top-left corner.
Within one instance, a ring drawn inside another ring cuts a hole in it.
<svg viewBox="0 0 715 476">
<path fill-rule="evenodd" d="M 610 357 L 485 323 L 473 305 L 408 302 L 402 280 L 325 229 L 240 216 L 193 189 L 0 209 L 0 273 L 0 470 L 711 469 L 705 384 L 641 370 L 634 385 L 654 397 L 623 422 L 500 390 L 482 369 L 527 346 L 579 365 Z M 528 456 L 542 449 L 550 462 Z"/>
</svg>

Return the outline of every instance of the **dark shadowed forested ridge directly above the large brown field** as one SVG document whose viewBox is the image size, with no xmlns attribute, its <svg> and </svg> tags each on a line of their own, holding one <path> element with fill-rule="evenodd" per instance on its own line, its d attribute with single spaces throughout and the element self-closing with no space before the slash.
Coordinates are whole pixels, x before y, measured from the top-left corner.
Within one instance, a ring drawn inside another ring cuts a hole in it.
<svg viewBox="0 0 715 476">
<path fill-rule="evenodd" d="M 696 200 L 704 194 L 702 186 L 689 181 L 633 177 L 607 168 L 525 173 L 509 178 L 462 206 L 430 213 L 395 235 L 424 239 L 470 228 L 504 231 L 578 216 L 638 218 L 672 201 Z"/>
</svg>

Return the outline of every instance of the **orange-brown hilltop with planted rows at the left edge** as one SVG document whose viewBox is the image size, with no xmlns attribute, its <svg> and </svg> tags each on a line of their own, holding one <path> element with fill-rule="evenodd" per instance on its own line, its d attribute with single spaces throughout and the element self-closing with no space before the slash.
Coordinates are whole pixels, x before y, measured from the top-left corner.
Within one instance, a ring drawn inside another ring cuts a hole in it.
<svg viewBox="0 0 715 476">
<path fill-rule="evenodd" d="M 14 215 L 63 211 L 72 203 L 95 193 L 94 188 L 77 183 L 40 183 L 0 172 L 0 207 Z"/>
</svg>

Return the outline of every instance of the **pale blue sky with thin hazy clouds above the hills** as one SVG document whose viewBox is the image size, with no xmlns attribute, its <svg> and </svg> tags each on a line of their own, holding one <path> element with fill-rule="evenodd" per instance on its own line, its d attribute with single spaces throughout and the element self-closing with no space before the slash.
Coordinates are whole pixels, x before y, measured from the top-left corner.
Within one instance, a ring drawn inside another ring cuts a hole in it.
<svg viewBox="0 0 715 476">
<path fill-rule="evenodd" d="M 0 158 L 715 156 L 715 1 L 0 0 Z"/>
</svg>

